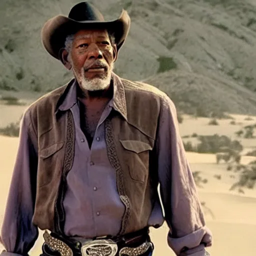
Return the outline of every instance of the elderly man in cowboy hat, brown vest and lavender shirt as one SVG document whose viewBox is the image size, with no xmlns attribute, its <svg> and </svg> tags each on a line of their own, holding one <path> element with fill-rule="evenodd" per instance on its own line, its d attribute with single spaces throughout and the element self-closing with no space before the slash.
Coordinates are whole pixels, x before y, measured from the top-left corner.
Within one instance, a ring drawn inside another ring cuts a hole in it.
<svg viewBox="0 0 256 256">
<path fill-rule="evenodd" d="M 177 255 L 208 255 L 172 101 L 112 71 L 129 25 L 126 11 L 107 22 L 87 2 L 44 24 L 45 49 L 74 78 L 23 115 L 1 255 L 27 255 L 38 228 L 43 256 L 152 255 L 148 228 L 164 220 Z"/>
</svg>

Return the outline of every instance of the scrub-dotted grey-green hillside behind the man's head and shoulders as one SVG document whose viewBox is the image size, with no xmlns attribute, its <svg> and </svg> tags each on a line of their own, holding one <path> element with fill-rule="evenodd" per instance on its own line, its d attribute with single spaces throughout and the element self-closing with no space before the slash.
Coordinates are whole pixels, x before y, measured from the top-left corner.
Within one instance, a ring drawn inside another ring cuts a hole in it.
<svg viewBox="0 0 256 256">
<path fill-rule="evenodd" d="M 0 1 L 0 89 L 47 91 L 71 73 L 46 53 L 40 29 L 79 0 Z M 256 114 L 256 1 L 92 0 L 131 29 L 115 72 L 155 85 L 184 112 Z"/>
</svg>

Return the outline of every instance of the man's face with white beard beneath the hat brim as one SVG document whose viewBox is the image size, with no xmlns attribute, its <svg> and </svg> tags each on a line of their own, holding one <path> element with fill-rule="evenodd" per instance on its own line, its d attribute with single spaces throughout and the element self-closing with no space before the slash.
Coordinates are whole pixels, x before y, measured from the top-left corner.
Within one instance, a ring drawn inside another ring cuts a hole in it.
<svg viewBox="0 0 256 256">
<path fill-rule="evenodd" d="M 85 90 L 108 87 L 116 48 L 106 30 L 79 30 L 74 34 L 69 61 L 72 71 Z"/>
</svg>

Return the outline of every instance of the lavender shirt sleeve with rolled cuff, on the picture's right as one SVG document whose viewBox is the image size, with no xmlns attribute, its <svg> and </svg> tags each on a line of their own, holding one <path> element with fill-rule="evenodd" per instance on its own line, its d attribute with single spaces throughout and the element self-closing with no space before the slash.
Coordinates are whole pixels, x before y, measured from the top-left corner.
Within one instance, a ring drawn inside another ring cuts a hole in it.
<svg viewBox="0 0 256 256">
<path fill-rule="evenodd" d="M 169 233 L 167 241 L 177 255 L 204 256 L 212 243 L 205 226 L 192 172 L 179 134 L 176 109 L 163 96 L 156 136 L 160 195 Z"/>
</svg>

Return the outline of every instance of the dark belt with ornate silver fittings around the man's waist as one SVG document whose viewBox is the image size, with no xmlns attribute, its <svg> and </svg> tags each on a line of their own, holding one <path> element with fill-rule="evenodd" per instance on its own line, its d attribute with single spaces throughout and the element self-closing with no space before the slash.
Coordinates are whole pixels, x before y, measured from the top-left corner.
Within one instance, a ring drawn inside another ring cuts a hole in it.
<svg viewBox="0 0 256 256">
<path fill-rule="evenodd" d="M 44 255 L 52 256 L 137 256 L 153 250 L 148 227 L 122 236 L 101 236 L 79 242 L 45 230 Z M 46 246 L 45 246 L 46 245 Z"/>
</svg>

